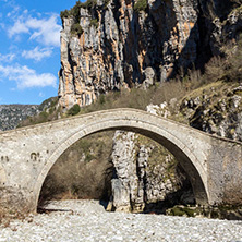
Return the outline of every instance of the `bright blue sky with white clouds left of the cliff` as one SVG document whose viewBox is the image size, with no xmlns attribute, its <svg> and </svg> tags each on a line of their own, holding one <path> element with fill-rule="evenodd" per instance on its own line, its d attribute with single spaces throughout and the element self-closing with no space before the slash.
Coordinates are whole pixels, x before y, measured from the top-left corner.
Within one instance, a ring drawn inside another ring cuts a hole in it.
<svg viewBox="0 0 242 242">
<path fill-rule="evenodd" d="M 0 105 L 57 96 L 60 11 L 76 0 L 0 0 Z"/>
</svg>

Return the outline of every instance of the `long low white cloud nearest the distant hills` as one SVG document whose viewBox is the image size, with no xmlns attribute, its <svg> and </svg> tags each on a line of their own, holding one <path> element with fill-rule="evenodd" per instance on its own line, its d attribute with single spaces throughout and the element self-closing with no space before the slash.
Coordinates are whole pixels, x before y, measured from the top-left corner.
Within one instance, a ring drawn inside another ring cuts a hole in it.
<svg viewBox="0 0 242 242">
<path fill-rule="evenodd" d="M 26 65 L 0 65 L 0 77 L 15 81 L 19 89 L 31 87 L 57 86 L 57 77 L 51 73 L 37 74 L 35 70 Z"/>
</svg>

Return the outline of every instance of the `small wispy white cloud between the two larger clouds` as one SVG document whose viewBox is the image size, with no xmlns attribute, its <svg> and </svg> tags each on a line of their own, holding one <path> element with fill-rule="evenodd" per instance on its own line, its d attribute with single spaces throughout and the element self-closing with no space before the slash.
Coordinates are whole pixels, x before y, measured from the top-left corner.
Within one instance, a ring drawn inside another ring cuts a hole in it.
<svg viewBox="0 0 242 242">
<path fill-rule="evenodd" d="M 41 61 L 44 58 L 50 57 L 52 55 L 51 48 L 41 48 L 37 46 L 33 50 L 24 50 L 22 57 L 26 59 L 33 59 L 35 61 Z"/>
</svg>

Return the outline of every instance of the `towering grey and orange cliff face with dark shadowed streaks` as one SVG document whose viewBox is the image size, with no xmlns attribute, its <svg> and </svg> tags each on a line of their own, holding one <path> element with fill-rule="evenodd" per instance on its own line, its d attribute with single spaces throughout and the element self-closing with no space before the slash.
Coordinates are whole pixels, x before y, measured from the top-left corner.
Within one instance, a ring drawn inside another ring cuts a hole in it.
<svg viewBox="0 0 242 242">
<path fill-rule="evenodd" d="M 59 104 L 164 82 L 203 64 L 242 29 L 240 1 L 87 0 L 62 15 Z"/>
</svg>

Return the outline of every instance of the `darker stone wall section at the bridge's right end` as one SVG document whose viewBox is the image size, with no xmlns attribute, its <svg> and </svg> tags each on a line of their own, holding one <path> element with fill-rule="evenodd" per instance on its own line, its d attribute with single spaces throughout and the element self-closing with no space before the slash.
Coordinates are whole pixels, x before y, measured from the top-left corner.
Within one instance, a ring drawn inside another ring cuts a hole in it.
<svg viewBox="0 0 242 242">
<path fill-rule="evenodd" d="M 208 159 L 209 204 L 242 205 L 242 146 L 217 140 Z"/>
</svg>

